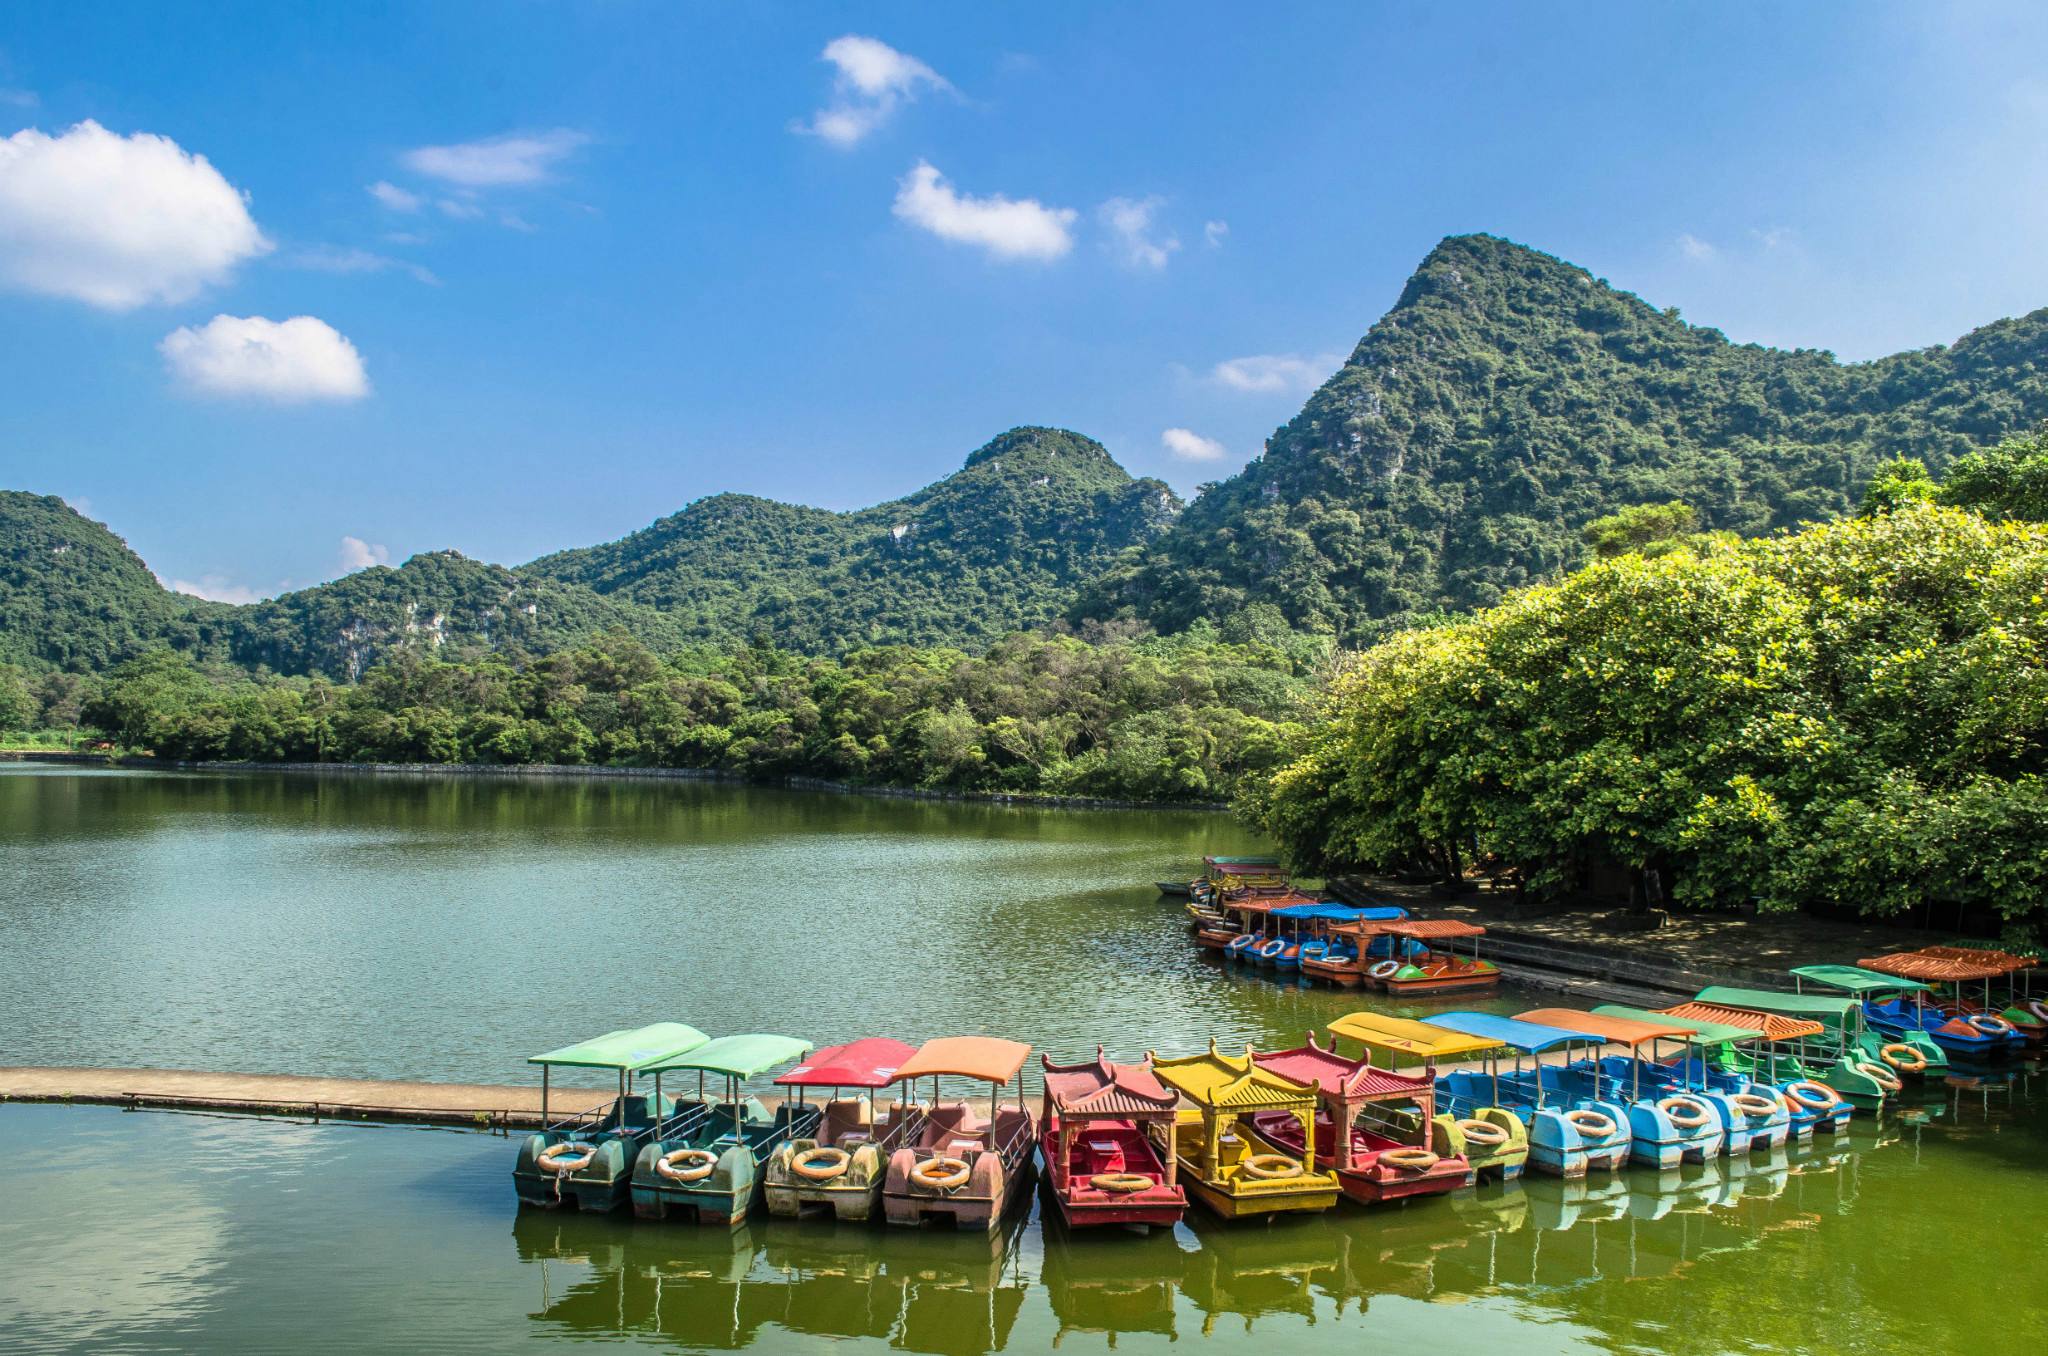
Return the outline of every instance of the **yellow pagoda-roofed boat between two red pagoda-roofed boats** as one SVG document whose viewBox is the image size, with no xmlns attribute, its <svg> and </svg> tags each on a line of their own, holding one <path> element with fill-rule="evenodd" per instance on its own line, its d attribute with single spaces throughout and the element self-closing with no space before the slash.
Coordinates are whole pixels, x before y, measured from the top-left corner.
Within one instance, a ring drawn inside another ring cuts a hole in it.
<svg viewBox="0 0 2048 1356">
<path fill-rule="evenodd" d="M 1223 1219 L 1327 1211 L 1337 1202 L 1335 1174 L 1315 1168 L 1315 1090 L 1260 1069 L 1251 1047 L 1223 1055 L 1208 1043 L 1204 1055 L 1159 1059 L 1147 1055 L 1161 1084 L 1190 1102 L 1174 1127 L 1180 1182 Z M 1262 1153 L 1239 1118 L 1284 1112 L 1303 1127 L 1296 1155 Z"/>
</svg>

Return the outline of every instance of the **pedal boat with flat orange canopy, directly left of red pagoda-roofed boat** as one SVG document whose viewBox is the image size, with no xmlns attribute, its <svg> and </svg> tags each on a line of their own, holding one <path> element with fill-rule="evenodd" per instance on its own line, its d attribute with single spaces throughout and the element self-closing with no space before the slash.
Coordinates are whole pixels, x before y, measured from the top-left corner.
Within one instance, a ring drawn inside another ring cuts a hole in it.
<svg viewBox="0 0 2048 1356">
<path fill-rule="evenodd" d="M 1034 1127 L 1024 1106 L 1024 1061 L 1030 1047 L 995 1036 L 940 1036 L 926 1041 L 897 1067 L 895 1082 L 932 1079 L 932 1100 L 899 1104 L 903 1139 L 889 1155 L 883 1215 L 891 1225 L 950 1221 L 958 1229 L 993 1233 L 1010 1206 L 1024 1198 L 1032 1176 Z M 940 1100 L 942 1077 L 989 1084 L 989 1114 L 981 1118 L 963 1098 Z M 1004 1086 L 1016 1079 L 1016 1106 L 1001 1106 Z M 905 1088 L 905 1102 L 909 1088 Z"/>
</svg>

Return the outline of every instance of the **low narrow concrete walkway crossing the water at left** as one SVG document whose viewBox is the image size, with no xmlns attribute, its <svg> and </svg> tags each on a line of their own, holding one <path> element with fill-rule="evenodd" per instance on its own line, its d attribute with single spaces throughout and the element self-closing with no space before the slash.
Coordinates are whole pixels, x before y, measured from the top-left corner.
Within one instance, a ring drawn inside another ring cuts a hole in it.
<svg viewBox="0 0 2048 1356">
<path fill-rule="evenodd" d="M 555 1088 L 549 1118 L 608 1106 L 610 1090 Z M 535 1129 L 541 1088 L 489 1084 L 399 1084 L 285 1073 L 195 1069 L 35 1069 L 0 1065 L 0 1102 L 84 1102 L 178 1110 L 233 1110 L 334 1120 L 408 1120 L 471 1129 Z"/>
</svg>

